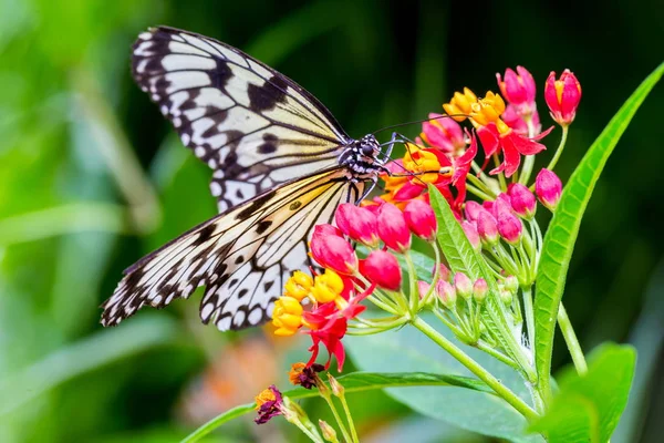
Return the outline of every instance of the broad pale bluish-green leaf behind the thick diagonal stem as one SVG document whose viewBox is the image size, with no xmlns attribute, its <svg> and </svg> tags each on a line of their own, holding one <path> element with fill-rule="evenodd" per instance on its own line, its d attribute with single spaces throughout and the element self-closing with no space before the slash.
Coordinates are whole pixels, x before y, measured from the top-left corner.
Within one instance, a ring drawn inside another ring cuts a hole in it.
<svg viewBox="0 0 664 443">
<path fill-rule="evenodd" d="M 458 342 L 452 331 L 433 315 L 425 313 L 422 317 L 523 401 L 530 403 L 530 393 L 517 371 L 478 349 Z M 344 344 L 353 363 L 364 371 L 388 368 L 397 372 L 425 371 L 475 377 L 412 326 L 373 336 L 349 336 L 344 338 Z M 422 415 L 467 431 L 515 442 L 543 441 L 538 435 L 525 435 L 528 424 L 523 416 L 494 394 L 461 388 L 387 389 L 386 392 Z"/>
</svg>

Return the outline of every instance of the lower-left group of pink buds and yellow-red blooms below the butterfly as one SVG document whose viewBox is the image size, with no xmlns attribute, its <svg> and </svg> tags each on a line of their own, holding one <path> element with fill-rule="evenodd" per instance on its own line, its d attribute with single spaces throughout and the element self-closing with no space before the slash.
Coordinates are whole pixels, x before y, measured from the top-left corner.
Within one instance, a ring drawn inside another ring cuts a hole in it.
<svg viewBox="0 0 664 443">
<path fill-rule="evenodd" d="M 274 303 L 272 324 L 278 336 L 301 330 L 311 337 L 309 365 L 323 344 L 341 371 L 345 359 L 341 340 L 349 321 L 364 311 L 360 302 L 378 291 L 400 292 L 402 270 L 396 255 L 407 254 L 413 234 L 433 241 L 437 226 L 433 209 L 422 200 L 408 203 L 403 212 L 388 203 L 367 207 L 343 204 L 335 223 L 336 227 L 318 225 L 311 237 L 311 257 L 323 271 L 313 277 L 295 271 L 290 277 Z M 364 245 L 365 257 L 357 256 L 351 240 Z M 325 368 L 329 365 L 330 359 Z"/>
</svg>

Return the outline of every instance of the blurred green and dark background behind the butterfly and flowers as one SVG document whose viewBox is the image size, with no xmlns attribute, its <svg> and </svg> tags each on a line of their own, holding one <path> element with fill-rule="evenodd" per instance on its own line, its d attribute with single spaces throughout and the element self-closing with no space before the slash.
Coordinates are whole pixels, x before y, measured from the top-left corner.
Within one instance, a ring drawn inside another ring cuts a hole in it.
<svg viewBox="0 0 664 443">
<path fill-rule="evenodd" d="M 356 137 L 440 112 L 463 86 L 496 91 L 508 66 L 526 66 L 540 86 L 570 68 L 583 100 L 558 168 L 566 178 L 663 60 L 662 23 L 658 1 L 0 0 L 0 442 L 176 441 L 283 383 L 288 362 L 303 357 L 260 331 L 204 328 L 196 302 L 98 324 L 122 269 L 215 214 L 209 171 L 131 79 L 129 47 L 147 27 L 249 52 Z M 664 432 L 664 87 L 652 95 L 594 192 L 564 297 L 584 349 L 639 348 L 614 443 Z M 567 363 L 558 338 L 554 364 Z M 484 441 L 383 393 L 352 408 L 367 441 Z M 297 439 L 247 420 L 208 441 Z"/>
</svg>

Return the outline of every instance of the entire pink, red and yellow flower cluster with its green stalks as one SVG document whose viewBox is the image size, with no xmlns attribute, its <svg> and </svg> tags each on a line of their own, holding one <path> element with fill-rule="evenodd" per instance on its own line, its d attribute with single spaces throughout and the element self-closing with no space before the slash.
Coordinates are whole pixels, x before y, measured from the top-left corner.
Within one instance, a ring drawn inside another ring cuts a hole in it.
<svg viewBox="0 0 664 443">
<path fill-rule="evenodd" d="M 293 365 L 291 381 L 317 387 L 331 408 L 329 388 L 317 373 L 329 369 L 332 357 L 342 370 L 345 334 L 378 333 L 408 322 L 418 327 L 422 310 L 432 311 L 460 341 L 520 371 L 527 382 L 537 379 L 532 286 L 543 241 L 536 214 L 538 200 L 551 212 L 560 200 L 562 183 L 553 167 L 574 120 L 581 86 L 569 70 L 558 80 L 554 73 L 549 75 L 544 101 L 562 136 L 548 165 L 535 174 L 535 157 L 546 150 L 540 142 L 554 126 L 542 132 L 536 82 L 525 68 L 508 69 L 496 78 L 501 95 L 488 91 L 478 97 L 464 89 L 443 104 L 446 114 L 429 114 L 421 134 L 404 143 L 404 156 L 386 165 L 383 195 L 362 206 L 343 204 L 335 213 L 335 226 L 314 228 L 309 249 L 320 270 L 295 271 L 276 301 L 274 333 L 301 332 L 312 339 L 311 358 Z M 484 159 L 477 161 L 480 146 Z M 481 278 L 477 274 L 470 278 L 467 269 L 458 269 L 458 261 L 454 271 L 446 266 L 429 205 L 432 186 L 445 197 L 475 255 L 486 264 Z M 423 276 L 415 267 L 413 236 L 433 250 L 430 275 Z M 367 302 L 386 316 L 364 318 Z M 425 330 L 430 337 L 430 329 Z M 329 353 L 324 365 L 315 363 L 321 344 Z M 335 395 L 339 390 L 343 393 L 333 379 L 330 387 L 338 390 Z M 300 418 L 294 422 L 303 432 L 314 432 L 302 424 L 307 423 L 302 413 L 286 403 L 271 387 L 257 398 L 258 421 L 290 413 Z M 343 424 L 338 424 L 349 440 Z M 319 426 L 325 439 L 335 441 L 330 425 Z"/>
</svg>

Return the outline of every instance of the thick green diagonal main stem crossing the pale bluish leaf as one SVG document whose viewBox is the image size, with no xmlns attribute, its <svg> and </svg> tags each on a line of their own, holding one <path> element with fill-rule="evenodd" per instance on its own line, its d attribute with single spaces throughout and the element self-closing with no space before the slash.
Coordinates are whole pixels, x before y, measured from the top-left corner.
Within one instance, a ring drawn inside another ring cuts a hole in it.
<svg viewBox="0 0 664 443">
<path fill-rule="evenodd" d="M 535 410 L 532 410 L 528 404 L 526 404 L 526 402 L 523 402 L 523 400 L 521 400 L 517 394 L 509 390 L 490 372 L 488 372 L 486 369 L 479 365 L 475 360 L 470 358 L 470 356 L 461 351 L 452 341 L 447 340 L 445 337 L 438 333 L 438 331 L 432 328 L 421 317 L 414 317 L 412 320 L 412 324 L 415 328 L 419 329 L 419 331 L 422 331 L 434 342 L 436 342 L 440 348 L 447 351 L 452 357 L 457 359 L 463 365 L 468 368 L 468 370 L 470 370 L 470 372 L 477 375 L 481 381 L 487 383 L 487 385 L 491 388 L 494 392 L 501 396 L 513 409 L 519 411 L 528 421 L 532 421 L 539 416 L 537 412 L 535 412 Z"/>
</svg>

